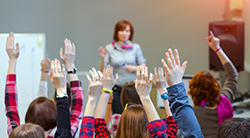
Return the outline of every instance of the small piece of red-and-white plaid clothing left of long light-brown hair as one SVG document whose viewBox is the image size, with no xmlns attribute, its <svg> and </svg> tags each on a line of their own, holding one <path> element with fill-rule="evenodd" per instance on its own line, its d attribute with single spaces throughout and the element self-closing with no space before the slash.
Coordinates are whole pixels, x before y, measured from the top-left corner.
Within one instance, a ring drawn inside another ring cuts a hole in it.
<svg viewBox="0 0 250 138">
<path fill-rule="evenodd" d="M 111 119 L 109 120 L 108 130 L 113 135 L 113 137 L 115 137 L 115 133 L 116 133 L 120 118 L 121 118 L 120 114 L 114 114 L 111 116 Z"/>
</svg>

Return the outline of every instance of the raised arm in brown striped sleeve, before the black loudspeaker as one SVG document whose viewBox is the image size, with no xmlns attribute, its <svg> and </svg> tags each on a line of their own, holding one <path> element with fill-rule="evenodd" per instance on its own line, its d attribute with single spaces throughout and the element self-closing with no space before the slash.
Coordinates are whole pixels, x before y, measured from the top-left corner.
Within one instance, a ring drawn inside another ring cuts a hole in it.
<svg viewBox="0 0 250 138">
<path fill-rule="evenodd" d="M 225 95 L 231 102 L 233 102 L 233 97 L 236 93 L 238 87 L 238 72 L 234 67 L 233 63 L 224 53 L 223 49 L 220 47 L 220 40 L 213 35 L 213 32 L 210 31 L 210 35 L 206 38 L 207 44 L 209 47 L 216 52 L 219 57 L 226 73 L 227 79 L 223 85 L 221 93 Z"/>
</svg>

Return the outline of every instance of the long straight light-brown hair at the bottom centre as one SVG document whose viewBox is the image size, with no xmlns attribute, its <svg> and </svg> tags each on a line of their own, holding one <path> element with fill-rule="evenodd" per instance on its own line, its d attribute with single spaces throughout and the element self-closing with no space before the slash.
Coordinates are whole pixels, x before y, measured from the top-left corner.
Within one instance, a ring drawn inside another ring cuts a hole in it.
<svg viewBox="0 0 250 138">
<path fill-rule="evenodd" d="M 151 138 L 146 126 L 147 122 L 144 108 L 131 105 L 121 115 L 115 138 Z"/>
</svg>

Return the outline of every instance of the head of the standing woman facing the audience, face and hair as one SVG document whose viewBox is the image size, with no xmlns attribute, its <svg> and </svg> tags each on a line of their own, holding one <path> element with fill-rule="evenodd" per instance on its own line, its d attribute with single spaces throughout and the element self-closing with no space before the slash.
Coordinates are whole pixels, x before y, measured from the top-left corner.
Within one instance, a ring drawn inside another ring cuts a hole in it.
<svg viewBox="0 0 250 138">
<path fill-rule="evenodd" d="M 127 20 L 120 20 L 115 25 L 113 39 L 115 41 L 132 41 L 134 35 L 134 28 L 132 24 Z"/>
</svg>

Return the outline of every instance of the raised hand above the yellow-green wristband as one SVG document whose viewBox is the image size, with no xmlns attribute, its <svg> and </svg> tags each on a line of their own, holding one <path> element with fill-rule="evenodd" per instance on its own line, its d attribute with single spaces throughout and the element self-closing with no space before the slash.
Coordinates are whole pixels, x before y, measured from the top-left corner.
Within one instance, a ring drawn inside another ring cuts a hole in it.
<svg viewBox="0 0 250 138">
<path fill-rule="evenodd" d="M 105 89 L 111 90 L 115 86 L 116 80 L 118 79 L 118 74 L 116 74 L 114 78 L 113 67 L 108 65 L 107 68 L 103 69 L 103 76 L 103 87 Z"/>
</svg>

